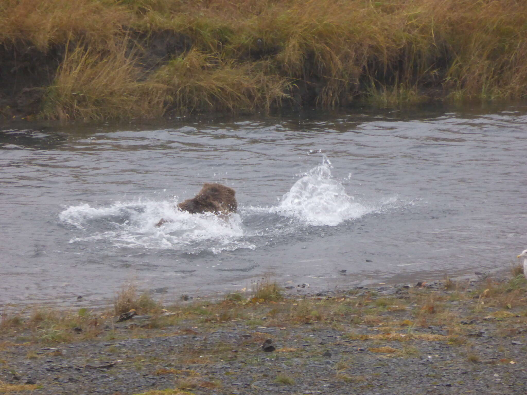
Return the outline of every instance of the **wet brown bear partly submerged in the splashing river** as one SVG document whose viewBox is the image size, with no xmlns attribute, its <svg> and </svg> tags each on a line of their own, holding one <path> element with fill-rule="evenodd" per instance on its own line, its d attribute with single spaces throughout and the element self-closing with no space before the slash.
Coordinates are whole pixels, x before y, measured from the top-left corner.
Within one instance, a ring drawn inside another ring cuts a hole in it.
<svg viewBox="0 0 527 395">
<path fill-rule="evenodd" d="M 206 182 L 196 196 L 178 203 L 178 208 L 191 214 L 214 213 L 227 219 L 229 213 L 235 213 L 238 209 L 235 194 L 235 190 L 228 186 Z M 156 226 L 165 222 L 167 220 L 162 219 Z"/>
</svg>

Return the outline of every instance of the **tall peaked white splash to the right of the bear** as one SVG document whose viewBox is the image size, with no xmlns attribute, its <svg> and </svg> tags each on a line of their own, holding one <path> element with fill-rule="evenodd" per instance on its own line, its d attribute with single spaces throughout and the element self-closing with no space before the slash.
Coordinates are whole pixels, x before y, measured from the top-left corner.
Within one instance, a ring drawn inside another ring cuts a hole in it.
<svg viewBox="0 0 527 395">
<path fill-rule="evenodd" d="M 372 212 L 373 208 L 346 194 L 344 186 L 331 176 L 332 168 L 324 156 L 322 164 L 305 173 L 282 197 L 276 212 L 314 226 L 335 226 Z"/>
</svg>

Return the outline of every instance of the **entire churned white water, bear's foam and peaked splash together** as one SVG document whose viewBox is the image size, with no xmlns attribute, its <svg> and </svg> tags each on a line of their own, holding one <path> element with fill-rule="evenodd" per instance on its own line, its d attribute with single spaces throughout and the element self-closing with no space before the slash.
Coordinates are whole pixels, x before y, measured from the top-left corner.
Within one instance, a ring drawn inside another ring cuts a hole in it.
<svg viewBox="0 0 527 395">
<path fill-rule="evenodd" d="M 175 208 L 179 201 L 116 202 L 110 206 L 70 206 L 60 219 L 77 231 L 70 243 L 109 243 L 118 248 L 219 253 L 256 249 L 276 235 L 295 233 L 304 226 L 335 226 L 377 211 L 354 201 L 331 175 L 330 161 L 302 174 L 278 206 L 241 207 L 226 222 L 212 213 L 190 214 Z M 158 221 L 167 220 L 161 227 Z M 243 223 L 242 223 L 243 219 Z"/>
</svg>

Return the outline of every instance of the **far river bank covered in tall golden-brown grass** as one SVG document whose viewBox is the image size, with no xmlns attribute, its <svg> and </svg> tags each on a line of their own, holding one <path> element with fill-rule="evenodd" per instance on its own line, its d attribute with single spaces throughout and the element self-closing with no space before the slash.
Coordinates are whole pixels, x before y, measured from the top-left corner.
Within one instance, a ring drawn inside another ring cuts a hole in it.
<svg viewBox="0 0 527 395">
<path fill-rule="evenodd" d="M 4 116 L 148 118 L 527 93 L 518 0 L 5 0 L 0 43 Z"/>
</svg>

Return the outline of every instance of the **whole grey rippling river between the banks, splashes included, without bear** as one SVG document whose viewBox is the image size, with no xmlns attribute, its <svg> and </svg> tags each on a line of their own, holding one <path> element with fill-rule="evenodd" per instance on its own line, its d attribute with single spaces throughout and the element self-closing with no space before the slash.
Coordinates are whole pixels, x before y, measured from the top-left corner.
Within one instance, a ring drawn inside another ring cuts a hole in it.
<svg viewBox="0 0 527 395">
<path fill-rule="evenodd" d="M 0 132 L 0 304 L 413 282 L 527 248 L 527 106 L 42 125 Z M 174 210 L 203 182 L 236 190 L 229 222 Z"/>
</svg>

